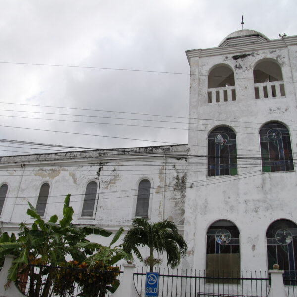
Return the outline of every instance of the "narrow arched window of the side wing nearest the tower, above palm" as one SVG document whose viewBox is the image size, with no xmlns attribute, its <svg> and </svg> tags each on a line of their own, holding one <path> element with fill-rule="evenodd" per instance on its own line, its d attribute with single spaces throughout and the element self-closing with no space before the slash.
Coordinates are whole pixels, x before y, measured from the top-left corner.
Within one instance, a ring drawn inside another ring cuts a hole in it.
<svg viewBox="0 0 297 297">
<path fill-rule="evenodd" d="M 148 218 L 149 196 L 150 181 L 148 179 L 144 179 L 138 185 L 135 216 Z"/>
</svg>

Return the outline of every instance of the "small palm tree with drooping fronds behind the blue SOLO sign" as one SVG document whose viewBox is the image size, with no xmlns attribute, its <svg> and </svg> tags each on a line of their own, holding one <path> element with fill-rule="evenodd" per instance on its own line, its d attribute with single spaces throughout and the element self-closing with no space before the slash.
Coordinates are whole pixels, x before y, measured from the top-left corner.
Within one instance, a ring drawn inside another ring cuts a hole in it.
<svg viewBox="0 0 297 297">
<path fill-rule="evenodd" d="M 153 257 L 153 252 L 167 253 L 167 266 L 176 267 L 181 258 L 186 254 L 187 244 L 182 235 L 178 234 L 177 226 L 172 221 L 160 221 L 149 223 L 147 219 L 136 218 L 132 227 L 124 237 L 123 249 L 127 253 L 132 251 L 140 261 L 144 261 L 138 247 L 148 246 L 150 256 L 146 259 L 149 271 L 153 272 L 153 266 L 158 259 Z"/>
</svg>

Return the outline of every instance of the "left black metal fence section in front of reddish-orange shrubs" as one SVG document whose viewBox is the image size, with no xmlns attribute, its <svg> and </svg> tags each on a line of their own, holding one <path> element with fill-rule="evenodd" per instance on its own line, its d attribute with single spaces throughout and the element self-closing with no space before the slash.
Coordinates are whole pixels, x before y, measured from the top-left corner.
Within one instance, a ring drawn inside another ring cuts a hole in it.
<svg viewBox="0 0 297 297">
<path fill-rule="evenodd" d="M 28 297 L 108 297 L 122 273 L 120 267 L 88 270 L 29 265 L 19 274 L 16 285 Z"/>
</svg>

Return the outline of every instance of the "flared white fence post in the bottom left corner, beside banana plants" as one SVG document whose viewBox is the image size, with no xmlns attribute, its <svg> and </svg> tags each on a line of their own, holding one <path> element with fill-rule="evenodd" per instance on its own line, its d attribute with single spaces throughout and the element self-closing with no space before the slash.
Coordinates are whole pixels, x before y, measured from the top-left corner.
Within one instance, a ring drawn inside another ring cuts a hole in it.
<svg viewBox="0 0 297 297">
<path fill-rule="evenodd" d="M 8 270 L 12 265 L 14 256 L 8 255 L 5 257 L 4 265 L 0 271 L 0 297 L 25 297 L 14 282 L 10 282 L 7 290 L 5 290 L 5 284 L 7 283 Z"/>
</svg>

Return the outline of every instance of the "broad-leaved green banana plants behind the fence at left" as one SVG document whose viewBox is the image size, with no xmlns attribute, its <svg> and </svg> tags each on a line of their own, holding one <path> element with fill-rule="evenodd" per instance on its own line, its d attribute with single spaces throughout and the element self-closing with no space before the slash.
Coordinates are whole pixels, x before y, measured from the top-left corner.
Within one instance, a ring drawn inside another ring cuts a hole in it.
<svg viewBox="0 0 297 297">
<path fill-rule="evenodd" d="M 110 266 L 119 259 L 129 258 L 129 255 L 124 253 L 120 247 L 110 247 L 118 239 L 122 229 L 115 234 L 109 247 L 92 243 L 86 239 L 86 236 L 98 234 L 107 237 L 112 232 L 94 226 L 79 227 L 74 225 L 72 223 L 74 211 L 69 203 L 70 194 L 64 201 L 62 219 L 58 222 L 58 216 L 53 215 L 46 222 L 28 202 L 27 214 L 34 219 L 31 228 L 21 223 L 17 239 L 14 235 L 9 237 L 6 233 L 0 239 L 0 261 L 3 262 L 7 254 L 16 256 L 9 270 L 8 281 L 16 281 L 20 278 L 27 281 L 29 278 L 29 296 L 31 297 L 47 297 L 49 295 L 53 279 L 53 270 L 49 267 L 67 263 L 67 255 L 70 255 L 79 264 L 86 263 L 89 270 L 92 269 L 96 261 L 101 261 L 102 265 L 106 263 Z M 31 264 L 40 265 L 38 273 L 33 271 Z M 42 289 L 44 275 L 47 278 Z"/>
</svg>

